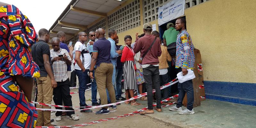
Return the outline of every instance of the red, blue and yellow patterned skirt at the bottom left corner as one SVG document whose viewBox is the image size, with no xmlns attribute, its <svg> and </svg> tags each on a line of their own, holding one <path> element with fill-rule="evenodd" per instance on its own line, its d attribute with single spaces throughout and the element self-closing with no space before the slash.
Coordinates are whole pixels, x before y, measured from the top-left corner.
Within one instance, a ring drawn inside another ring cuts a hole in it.
<svg viewBox="0 0 256 128">
<path fill-rule="evenodd" d="M 36 126 L 36 120 L 36 108 L 23 93 L 0 93 L 1 128 L 31 128 Z"/>
</svg>

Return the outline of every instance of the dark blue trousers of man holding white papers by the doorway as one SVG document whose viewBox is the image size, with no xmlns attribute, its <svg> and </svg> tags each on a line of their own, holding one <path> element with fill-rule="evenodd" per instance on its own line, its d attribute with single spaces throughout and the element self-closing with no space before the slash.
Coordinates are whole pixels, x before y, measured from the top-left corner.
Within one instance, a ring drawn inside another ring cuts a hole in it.
<svg viewBox="0 0 256 128">
<path fill-rule="evenodd" d="M 179 68 L 179 71 L 181 72 L 182 69 Z M 187 108 L 188 110 L 193 109 L 193 104 L 194 104 L 194 89 L 193 89 L 193 82 L 192 80 L 185 81 L 183 83 L 178 83 L 178 90 L 179 90 L 179 97 L 177 101 L 177 108 L 182 106 L 182 101 L 185 97 L 185 94 L 187 92 L 187 100 L 188 100 L 188 105 Z"/>
</svg>

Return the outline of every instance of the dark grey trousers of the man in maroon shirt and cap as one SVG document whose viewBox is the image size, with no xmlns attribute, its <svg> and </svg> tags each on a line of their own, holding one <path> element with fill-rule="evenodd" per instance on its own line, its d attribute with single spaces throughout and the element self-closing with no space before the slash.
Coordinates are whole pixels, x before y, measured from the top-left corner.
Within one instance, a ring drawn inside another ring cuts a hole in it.
<svg viewBox="0 0 256 128">
<path fill-rule="evenodd" d="M 150 65 L 143 68 L 143 77 L 145 79 L 147 93 L 148 93 L 148 109 L 153 110 L 153 93 L 152 88 L 156 89 L 156 108 L 161 108 L 161 90 L 159 81 L 159 67 Z"/>
</svg>

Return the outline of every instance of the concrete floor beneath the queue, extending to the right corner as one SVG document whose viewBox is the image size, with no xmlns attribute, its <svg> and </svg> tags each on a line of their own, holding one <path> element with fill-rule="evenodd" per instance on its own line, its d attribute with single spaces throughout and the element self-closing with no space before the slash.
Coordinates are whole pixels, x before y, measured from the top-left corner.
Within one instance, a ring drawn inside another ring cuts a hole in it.
<svg viewBox="0 0 256 128">
<path fill-rule="evenodd" d="M 70 92 L 77 92 L 78 89 L 72 89 Z M 89 105 L 92 102 L 91 91 L 85 93 L 86 103 Z M 97 99 L 99 94 L 97 95 Z M 58 126 L 67 126 L 75 124 L 83 124 L 91 121 L 105 119 L 115 116 L 131 113 L 135 110 L 147 107 L 147 101 L 137 100 L 142 103 L 140 106 L 125 105 L 124 103 L 117 106 L 117 109 L 110 109 L 110 114 L 95 115 L 95 113 L 80 113 L 76 111 L 75 114 L 79 116 L 80 120 L 73 121 L 68 119 L 68 116 L 63 116 L 59 122 L 54 121 L 52 124 Z M 78 93 L 72 94 L 73 106 L 79 106 Z M 53 101 L 52 101 L 52 104 Z M 53 107 L 54 108 L 54 107 Z M 155 114 L 141 116 L 139 114 L 134 116 L 122 117 L 119 119 L 100 122 L 92 124 L 89 128 L 256 128 L 256 107 L 247 106 L 229 102 L 206 100 L 201 102 L 201 106 L 194 108 L 193 115 L 178 115 L 178 112 L 169 111 L 169 107 L 163 108 L 163 112 L 156 112 Z M 98 109 L 93 109 L 97 111 Z M 185 109 L 183 107 L 183 109 Z M 51 114 L 51 118 L 56 118 L 55 113 Z"/>
</svg>

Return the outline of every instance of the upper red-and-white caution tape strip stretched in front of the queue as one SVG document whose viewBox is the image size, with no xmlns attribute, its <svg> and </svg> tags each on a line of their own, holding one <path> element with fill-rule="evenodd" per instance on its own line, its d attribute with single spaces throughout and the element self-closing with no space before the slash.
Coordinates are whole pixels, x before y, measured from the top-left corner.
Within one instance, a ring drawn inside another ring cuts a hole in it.
<svg viewBox="0 0 256 128">
<path fill-rule="evenodd" d="M 160 90 L 162 90 L 162 89 L 164 89 L 164 88 L 166 88 L 166 87 L 169 87 L 169 86 L 171 86 L 171 85 L 173 85 L 173 84 L 175 84 L 175 83 L 178 82 L 178 80 L 175 81 L 175 82 L 173 82 L 174 80 L 176 80 L 176 78 L 173 79 L 171 82 L 165 84 L 164 86 L 161 86 L 161 87 L 160 87 Z M 153 93 L 155 93 L 155 92 L 156 92 L 156 90 L 154 89 L 154 90 L 153 90 Z M 49 108 L 36 108 L 36 109 L 37 109 L 37 110 L 43 110 L 43 111 L 81 111 L 81 110 L 88 110 L 88 109 L 94 109 L 94 108 L 101 108 L 101 107 L 116 105 L 116 104 L 119 104 L 119 103 L 123 103 L 123 102 L 131 101 L 131 100 L 135 100 L 135 99 L 138 99 L 138 98 L 143 97 L 143 96 L 146 96 L 146 95 L 147 95 L 147 92 L 142 93 L 142 94 L 137 95 L 137 96 L 134 96 L 134 97 L 130 98 L 129 100 L 124 100 L 124 101 L 120 101 L 120 102 L 116 102 L 116 103 L 110 103 L 110 104 L 105 104 L 105 105 L 94 106 L 94 107 L 91 107 L 91 108 L 88 107 L 88 108 L 79 109 L 79 110 L 62 110 L 62 109 L 49 109 Z M 37 102 L 37 103 L 38 103 L 38 102 Z M 39 104 L 39 105 L 44 105 L 44 106 L 49 106 L 49 104 L 46 105 L 46 104 L 44 104 L 44 103 L 38 103 L 38 104 Z M 51 105 L 51 106 L 53 106 L 53 105 Z M 56 106 L 56 105 L 55 105 L 55 106 Z M 54 106 L 54 107 L 55 107 L 55 106 Z M 58 107 L 60 107 L 60 106 L 58 105 Z M 76 107 L 72 107 L 72 108 L 76 108 Z"/>
</svg>

